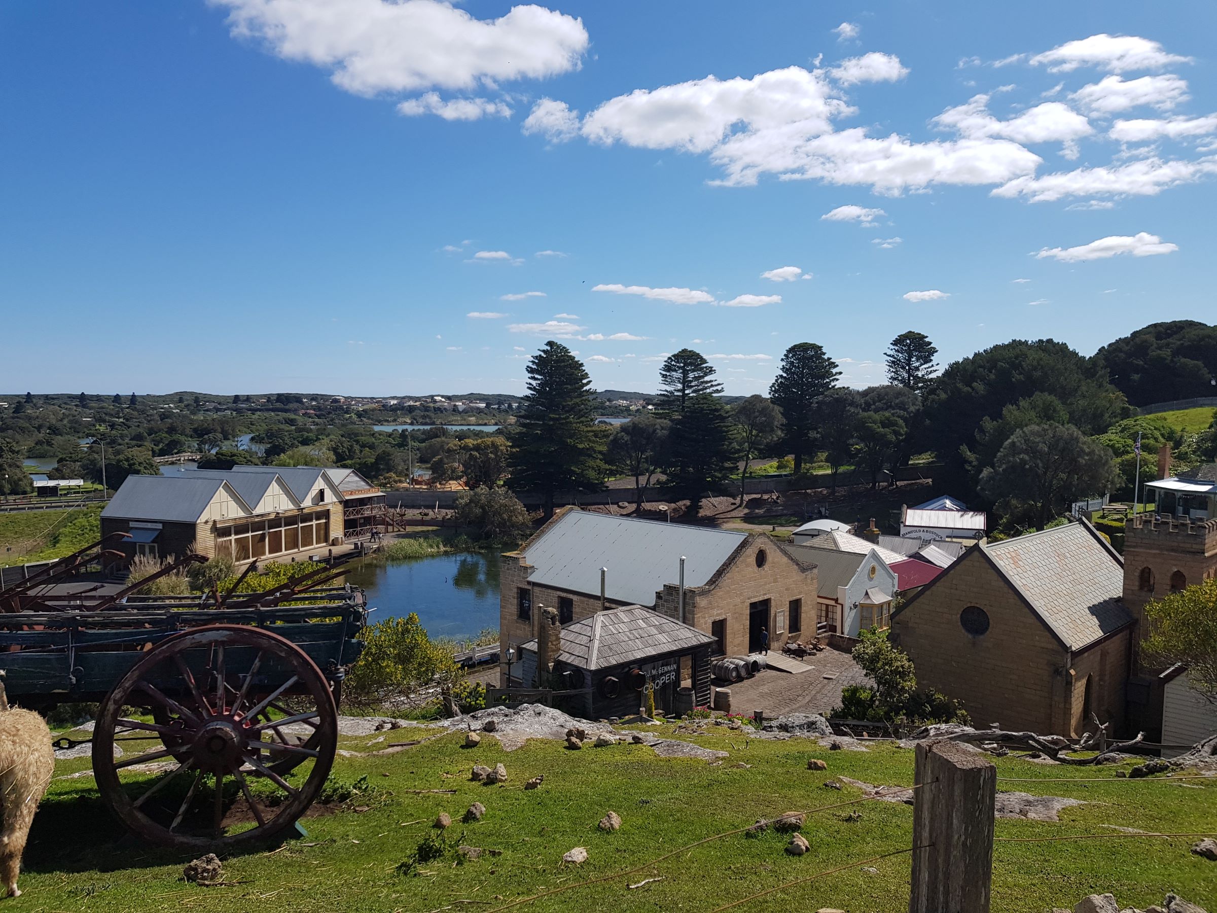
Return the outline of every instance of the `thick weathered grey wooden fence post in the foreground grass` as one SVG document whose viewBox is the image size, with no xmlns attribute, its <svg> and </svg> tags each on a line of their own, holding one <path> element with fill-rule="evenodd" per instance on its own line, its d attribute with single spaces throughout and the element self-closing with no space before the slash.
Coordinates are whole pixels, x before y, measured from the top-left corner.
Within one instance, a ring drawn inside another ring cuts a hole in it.
<svg viewBox="0 0 1217 913">
<path fill-rule="evenodd" d="M 909 913 L 989 913 L 997 768 L 954 741 L 916 746 Z"/>
</svg>

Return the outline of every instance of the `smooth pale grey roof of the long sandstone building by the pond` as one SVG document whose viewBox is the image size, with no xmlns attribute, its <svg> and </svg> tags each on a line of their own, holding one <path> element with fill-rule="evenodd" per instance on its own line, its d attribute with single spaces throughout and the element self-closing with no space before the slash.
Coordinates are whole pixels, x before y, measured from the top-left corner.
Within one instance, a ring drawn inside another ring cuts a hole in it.
<svg viewBox="0 0 1217 913">
<path fill-rule="evenodd" d="M 540 538 L 528 544 L 525 560 L 533 566 L 528 581 L 576 593 L 600 593 L 600 568 L 607 567 L 605 595 L 616 603 L 655 605 L 664 583 L 680 578 L 701 587 L 748 534 L 684 523 L 608 516 L 572 510 Z"/>
</svg>

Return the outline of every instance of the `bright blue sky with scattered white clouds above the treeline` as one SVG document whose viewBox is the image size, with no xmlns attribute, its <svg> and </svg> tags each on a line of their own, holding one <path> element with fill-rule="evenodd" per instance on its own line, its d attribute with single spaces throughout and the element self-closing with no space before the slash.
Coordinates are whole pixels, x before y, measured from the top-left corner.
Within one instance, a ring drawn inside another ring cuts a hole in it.
<svg viewBox="0 0 1217 913">
<path fill-rule="evenodd" d="M 867 386 L 909 329 L 946 363 L 1212 323 L 1215 30 L 1207 2 L 7 4 L 0 390 L 522 392 L 557 337 L 601 388 L 691 346 L 752 393 L 801 341 Z"/>
</svg>

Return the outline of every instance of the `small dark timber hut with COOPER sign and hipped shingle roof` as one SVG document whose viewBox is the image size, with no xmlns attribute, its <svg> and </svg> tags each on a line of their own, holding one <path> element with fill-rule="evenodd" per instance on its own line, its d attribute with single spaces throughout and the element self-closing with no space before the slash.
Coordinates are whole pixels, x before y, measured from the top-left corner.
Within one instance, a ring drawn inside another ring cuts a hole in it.
<svg viewBox="0 0 1217 913">
<path fill-rule="evenodd" d="M 550 617 L 553 616 L 553 617 Z M 511 676 L 523 688 L 573 690 L 589 688 L 590 699 L 572 712 L 593 718 L 627 716 L 645 704 L 645 688 L 655 689 L 655 707 L 678 707 L 680 661 L 692 668 L 692 706 L 710 705 L 710 651 L 714 638 L 640 605 L 607 609 L 570 624 L 557 612 L 543 614 L 539 640 L 520 648 L 520 665 Z M 690 700 L 686 696 L 685 702 Z"/>
</svg>

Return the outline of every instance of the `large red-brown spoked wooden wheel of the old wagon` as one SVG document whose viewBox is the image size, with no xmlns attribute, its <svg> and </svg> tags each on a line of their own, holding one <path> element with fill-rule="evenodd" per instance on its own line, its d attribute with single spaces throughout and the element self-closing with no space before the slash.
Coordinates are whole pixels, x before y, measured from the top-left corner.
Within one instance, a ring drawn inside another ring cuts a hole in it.
<svg viewBox="0 0 1217 913">
<path fill-rule="evenodd" d="M 127 707 L 159 722 L 124 716 Z M 299 729 L 303 744 L 285 739 Z M 159 736 L 164 747 L 116 758 L 116 732 Z M 262 628 L 212 624 L 161 642 L 106 695 L 92 768 L 102 799 L 135 833 L 229 851 L 269 840 L 304 813 L 330 773 L 337 732 L 329 683 L 303 650 Z M 288 756 L 297 772 L 273 769 Z M 152 764 L 164 767 L 155 780 L 146 778 L 158 772 Z"/>
</svg>

